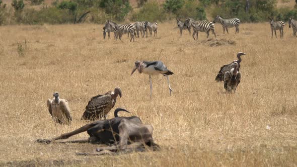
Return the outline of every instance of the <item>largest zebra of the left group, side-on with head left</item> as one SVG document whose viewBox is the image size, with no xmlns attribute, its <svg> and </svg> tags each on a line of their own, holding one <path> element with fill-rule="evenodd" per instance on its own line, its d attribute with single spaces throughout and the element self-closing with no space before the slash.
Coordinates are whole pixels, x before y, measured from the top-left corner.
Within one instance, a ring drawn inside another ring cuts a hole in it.
<svg viewBox="0 0 297 167">
<path fill-rule="evenodd" d="M 115 32 L 116 37 L 118 36 L 120 40 L 123 34 L 129 33 L 131 35 L 130 42 L 132 41 L 132 39 L 134 42 L 135 26 L 133 24 L 127 23 L 125 25 L 121 25 L 121 24 L 116 24 L 114 22 L 111 22 L 109 20 L 107 21 L 106 24 L 110 26 L 110 28 Z"/>
</svg>

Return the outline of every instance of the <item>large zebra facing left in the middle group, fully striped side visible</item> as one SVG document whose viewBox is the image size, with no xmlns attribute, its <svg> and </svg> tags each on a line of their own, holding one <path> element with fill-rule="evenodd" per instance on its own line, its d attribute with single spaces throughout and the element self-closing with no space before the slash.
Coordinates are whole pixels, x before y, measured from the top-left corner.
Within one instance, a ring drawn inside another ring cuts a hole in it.
<svg viewBox="0 0 297 167">
<path fill-rule="evenodd" d="M 187 25 L 187 27 L 193 27 L 193 38 L 194 40 L 198 40 L 198 32 L 205 32 L 207 34 L 207 37 L 209 37 L 209 31 L 212 32 L 212 34 L 214 35 L 214 37 L 216 38 L 215 32 L 214 32 L 214 24 L 212 22 L 208 22 L 206 20 L 203 21 L 195 21 L 194 19 L 191 18 L 187 18 L 185 21 L 185 24 Z M 197 39 L 195 39 L 194 35 L 195 33 L 197 33 Z"/>
</svg>

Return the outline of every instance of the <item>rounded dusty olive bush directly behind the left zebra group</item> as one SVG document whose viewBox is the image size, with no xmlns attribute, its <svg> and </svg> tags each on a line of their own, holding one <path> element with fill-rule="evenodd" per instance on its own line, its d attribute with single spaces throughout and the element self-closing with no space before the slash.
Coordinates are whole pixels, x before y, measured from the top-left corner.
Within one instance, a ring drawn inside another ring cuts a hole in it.
<svg viewBox="0 0 297 167">
<path fill-rule="evenodd" d="M 137 12 L 132 14 L 132 20 L 135 21 L 165 21 L 166 12 L 159 7 L 157 2 L 148 2 Z"/>
</svg>

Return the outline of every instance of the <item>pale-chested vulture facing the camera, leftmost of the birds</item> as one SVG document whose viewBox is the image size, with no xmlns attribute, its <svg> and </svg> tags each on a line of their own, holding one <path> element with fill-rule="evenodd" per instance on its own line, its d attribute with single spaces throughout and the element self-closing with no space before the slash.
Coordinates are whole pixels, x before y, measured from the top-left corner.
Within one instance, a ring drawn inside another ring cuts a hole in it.
<svg viewBox="0 0 297 167">
<path fill-rule="evenodd" d="M 48 111 L 52 119 L 59 124 L 69 124 L 72 120 L 68 101 L 65 99 L 59 99 L 59 93 L 53 94 L 52 100 L 47 100 Z"/>
</svg>

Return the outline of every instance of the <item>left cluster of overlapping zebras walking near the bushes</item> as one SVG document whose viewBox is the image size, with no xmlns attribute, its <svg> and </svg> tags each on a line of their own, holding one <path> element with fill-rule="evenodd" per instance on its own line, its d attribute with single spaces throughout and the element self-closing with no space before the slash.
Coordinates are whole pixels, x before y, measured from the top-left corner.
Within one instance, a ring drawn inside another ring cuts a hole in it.
<svg viewBox="0 0 297 167">
<path fill-rule="evenodd" d="M 119 39 L 121 40 L 122 35 L 128 33 L 128 37 L 129 35 L 131 36 L 130 42 L 132 41 L 132 39 L 134 42 L 134 36 L 136 36 L 136 38 L 139 38 L 139 31 L 142 38 L 144 37 L 145 32 L 147 37 L 147 29 L 148 31 L 150 31 L 150 36 L 153 36 L 153 32 L 154 37 L 157 36 L 158 23 L 143 21 L 135 22 L 134 24 L 127 23 L 125 25 L 121 25 L 107 20 L 103 27 L 103 37 L 105 39 L 106 33 L 108 33 L 108 38 L 110 39 L 110 32 L 114 32 L 114 38 L 117 40 L 117 37 L 119 37 Z"/>
</svg>

